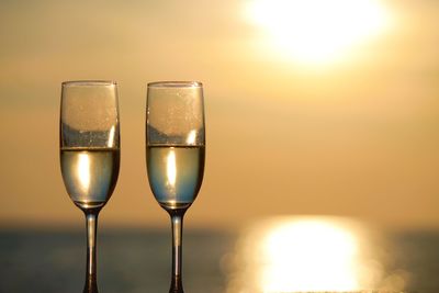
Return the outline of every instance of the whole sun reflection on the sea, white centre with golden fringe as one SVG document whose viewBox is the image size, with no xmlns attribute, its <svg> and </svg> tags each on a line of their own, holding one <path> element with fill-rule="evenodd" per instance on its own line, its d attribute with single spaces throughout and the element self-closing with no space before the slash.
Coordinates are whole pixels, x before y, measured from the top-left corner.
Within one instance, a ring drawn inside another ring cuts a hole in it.
<svg viewBox="0 0 439 293">
<path fill-rule="evenodd" d="M 403 290 L 404 282 L 385 280 L 372 238 L 363 225 L 345 218 L 263 221 L 238 241 L 227 292 Z"/>
</svg>

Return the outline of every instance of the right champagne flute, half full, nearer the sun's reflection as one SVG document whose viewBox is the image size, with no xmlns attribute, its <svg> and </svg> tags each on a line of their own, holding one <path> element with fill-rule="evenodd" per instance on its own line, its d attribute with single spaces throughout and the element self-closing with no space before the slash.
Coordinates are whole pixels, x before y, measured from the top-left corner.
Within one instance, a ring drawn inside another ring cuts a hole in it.
<svg viewBox="0 0 439 293">
<path fill-rule="evenodd" d="M 202 83 L 148 83 L 146 116 L 149 185 L 171 218 L 172 279 L 169 292 L 182 293 L 183 216 L 199 193 L 204 172 Z"/>
</svg>

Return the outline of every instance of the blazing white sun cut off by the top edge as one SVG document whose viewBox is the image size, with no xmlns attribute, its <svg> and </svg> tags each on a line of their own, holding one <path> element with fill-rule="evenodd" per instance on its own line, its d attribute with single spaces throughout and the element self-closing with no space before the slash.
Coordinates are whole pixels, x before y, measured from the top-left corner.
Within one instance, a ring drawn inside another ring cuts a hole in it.
<svg viewBox="0 0 439 293">
<path fill-rule="evenodd" d="M 391 22 L 379 0 L 255 0 L 245 11 L 275 54 L 314 65 L 345 58 Z"/>
</svg>

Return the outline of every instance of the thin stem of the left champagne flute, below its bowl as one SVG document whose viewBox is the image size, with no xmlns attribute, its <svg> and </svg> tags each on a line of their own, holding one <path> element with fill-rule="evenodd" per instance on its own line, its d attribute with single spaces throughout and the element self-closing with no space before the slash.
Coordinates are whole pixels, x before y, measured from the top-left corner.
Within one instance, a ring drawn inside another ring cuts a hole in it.
<svg viewBox="0 0 439 293">
<path fill-rule="evenodd" d="M 86 211 L 87 225 L 87 272 L 83 293 L 98 293 L 97 283 L 97 232 L 99 211 Z"/>
</svg>

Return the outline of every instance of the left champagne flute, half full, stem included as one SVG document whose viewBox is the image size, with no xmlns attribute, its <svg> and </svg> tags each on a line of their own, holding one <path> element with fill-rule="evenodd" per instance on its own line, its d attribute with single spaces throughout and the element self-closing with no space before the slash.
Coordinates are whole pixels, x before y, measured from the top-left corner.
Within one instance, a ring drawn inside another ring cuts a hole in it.
<svg viewBox="0 0 439 293">
<path fill-rule="evenodd" d="M 87 225 L 83 292 L 97 293 L 98 214 L 116 185 L 120 165 L 117 86 L 113 81 L 67 81 L 61 87 L 60 165 L 70 199 Z"/>
</svg>

